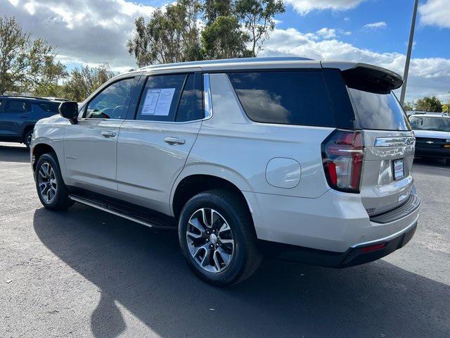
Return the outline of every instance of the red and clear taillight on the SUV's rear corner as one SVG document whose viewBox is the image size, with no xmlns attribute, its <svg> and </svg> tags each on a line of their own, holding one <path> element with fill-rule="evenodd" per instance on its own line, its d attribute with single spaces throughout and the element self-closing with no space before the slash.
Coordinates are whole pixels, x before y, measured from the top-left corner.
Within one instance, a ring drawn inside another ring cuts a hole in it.
<svg viewBox="0 0 450 338">
<path fill-rule="evenodd" d="M 359 131 L 335 130 L 322 142 L 326 180 L 341 192 L 359 192 L 364 159 L 364 139 Z"/>
</svg>

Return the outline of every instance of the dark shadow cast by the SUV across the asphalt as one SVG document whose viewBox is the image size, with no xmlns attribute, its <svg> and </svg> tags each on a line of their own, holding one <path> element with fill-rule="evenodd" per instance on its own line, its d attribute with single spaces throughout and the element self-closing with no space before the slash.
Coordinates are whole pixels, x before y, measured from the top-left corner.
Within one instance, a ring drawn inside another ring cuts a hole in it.
<svg viewBox="0 0 450 338">
<path fill-rule="evenodd" d="M 126 329 L 117 302 L 161 337 L 450 332 L 450 287 L 386 261 L 334 270 L 266 259 L 249 280 L 218 289 L 191 273 L 174 231 L 79 204 L 62 213 L 37 209 L 34 230 L 58 258 L 101 289 L 91 314 L 95 337 L 117 337 Z"/>
</svg>

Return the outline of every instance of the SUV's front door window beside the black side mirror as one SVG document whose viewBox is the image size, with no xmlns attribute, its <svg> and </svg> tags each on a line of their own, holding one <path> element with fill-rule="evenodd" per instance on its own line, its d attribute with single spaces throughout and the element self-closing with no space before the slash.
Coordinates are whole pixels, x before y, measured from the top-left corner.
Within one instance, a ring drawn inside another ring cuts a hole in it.
<svg viewBox="0 0 450 338">
<path fill-rule="evenodd" d="M 86 118 L 117 118 L 127 115 L 134 77 L 123 79 L 103 89 L 92 99 L 86 108 Z"/>
</svg>

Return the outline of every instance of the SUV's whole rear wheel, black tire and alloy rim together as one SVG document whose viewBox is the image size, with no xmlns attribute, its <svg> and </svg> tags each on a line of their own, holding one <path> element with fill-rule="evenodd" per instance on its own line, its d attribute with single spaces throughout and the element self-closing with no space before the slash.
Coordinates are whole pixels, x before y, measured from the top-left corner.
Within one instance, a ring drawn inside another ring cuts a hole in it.
<svg viewBox="0 0 450 338">
<path fill-rule="evenodd" d="M 189 267 L 219 287 L 257 270 L 261 255 L 246 205 L 238 194 L 210 190 L 193 196 L 181 211 L 179 242 Z"/>
</svg>

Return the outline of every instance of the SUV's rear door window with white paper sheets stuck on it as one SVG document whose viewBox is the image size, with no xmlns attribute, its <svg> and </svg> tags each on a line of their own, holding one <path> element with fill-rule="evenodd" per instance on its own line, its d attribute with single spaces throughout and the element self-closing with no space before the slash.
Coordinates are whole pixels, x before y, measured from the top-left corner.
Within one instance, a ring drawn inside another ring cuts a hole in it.
<svg viewBox="0 0 450 338">
<path fill-rule="evenodd" d="M 136 119 L 173 122 L 185 80 L 186 74 L 149 76 Z"/>
</svg>

